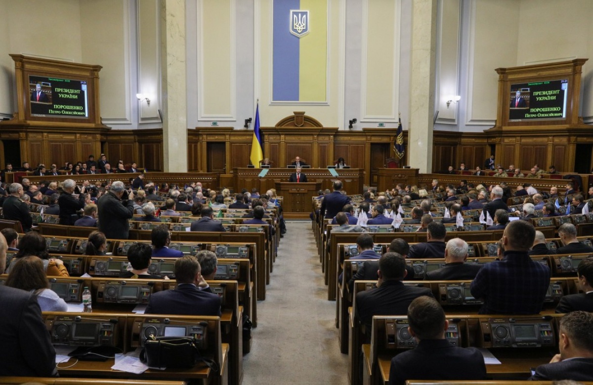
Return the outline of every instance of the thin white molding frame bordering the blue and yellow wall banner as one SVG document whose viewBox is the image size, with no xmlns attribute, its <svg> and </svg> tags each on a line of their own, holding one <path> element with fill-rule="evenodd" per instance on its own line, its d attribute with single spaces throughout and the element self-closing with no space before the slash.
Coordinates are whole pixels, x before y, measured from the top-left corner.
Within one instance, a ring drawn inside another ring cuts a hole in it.
<svg viewBox="0 0 593 385">
<path fill-rule="evenodd" d="M 340 0 L 342 1 L 342 0 Z M 326 100 L 325 102 L 312 102 L 312 101 L 295 101 L 295 100 L 273 100 L 273 87 L 274 87 L 274 0 L 270 0 L 270 106 L 329 106 L 330 105 L 330 56 L 331 56 L 331 39 L 330 39 L 330 26 L 331 26 L 331 0 L 326 0 L 327 11 L 326 11 Z M 346 13 L 346 12 L 345 12 Z M 345 23 L 345 20 L 340 19 L 340 23 Z M 340 35 L 340 37 L 343 35 Z M 256 51 L 257 52 L 257 51 Z M 340 63 L 340 65 L 344 65 Z"/>
</svg>

